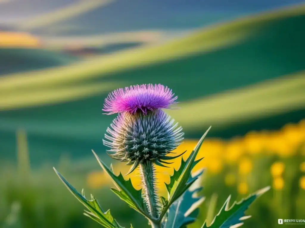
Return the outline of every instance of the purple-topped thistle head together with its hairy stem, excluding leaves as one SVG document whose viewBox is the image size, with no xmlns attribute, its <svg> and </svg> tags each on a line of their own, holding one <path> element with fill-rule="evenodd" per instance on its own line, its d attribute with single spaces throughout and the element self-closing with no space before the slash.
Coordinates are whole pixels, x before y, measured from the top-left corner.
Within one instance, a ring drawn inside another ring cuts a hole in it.
<svg viewBox="0 0 305 228">
<path fill-rule="evenodd" d="M 176 157 L 166 156 L 183 140 L 182 127 L 174 124 L 161 108 L 170 108 L 177 96 L 163 85 L 136 85 L 117 89 L 105 99 L 104 111 L 119 112 L 111 128 L 107 129 L 105 146 L 111 157 L 132 164 L 129 172 L 140 166 L 143 198 L 151 216 L 157 217 L 161 207 L 156 195 L 156 178 L 153 164 L 164 166 Z M 109 141 L 107 141 L 109 140 Z"/>
</svg>

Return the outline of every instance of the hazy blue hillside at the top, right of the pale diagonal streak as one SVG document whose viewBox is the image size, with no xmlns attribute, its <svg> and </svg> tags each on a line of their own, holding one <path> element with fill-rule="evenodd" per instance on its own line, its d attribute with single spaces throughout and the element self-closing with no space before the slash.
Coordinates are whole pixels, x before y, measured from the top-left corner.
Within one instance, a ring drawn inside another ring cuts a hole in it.
<svg viewBox="0 0 305 228">
<path fill-rule="evenodd" d="M 301 2 L 302 0 L 115 0 L 106 7 L 96 7 L 61 23 L 35 29 L 35 32 L 88 35 L 143 29 L 198 28 L 240 15 Z"/>
</svg>

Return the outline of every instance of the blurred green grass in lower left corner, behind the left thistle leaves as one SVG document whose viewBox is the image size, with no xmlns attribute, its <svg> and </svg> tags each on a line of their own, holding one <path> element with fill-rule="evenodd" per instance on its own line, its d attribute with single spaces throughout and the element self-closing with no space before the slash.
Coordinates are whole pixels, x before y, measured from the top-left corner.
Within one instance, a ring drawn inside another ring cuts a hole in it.
<svg viewBox="0 0 305 228">
<path fill-rule="evenodd" d="M 6 174 L 6 175 L 4 175 Z M 145 220 L 133 212 L 124 202 L 113 197 L 109 189 L 92 190 L 86 187 L 85 175 L 71 175 L 65 172 L 69 179 L 81 191 L 85 188 L 86 197 L 94 194 L 103 209 L 111 209 L 112 214 L 120 218 L 121 224 L 128 226 L 130 221 L 137 221 L 145 227 Z M 83 216 L 84 207 L 75 199 L 57 178 L 51 166 L 39 170 L 32 170 L 30 178 L 23 181 L 18 178 L 15 167 L 1 166 L 0 183 L 0 227 L 9 213 L 13 202 L 20 202 L 21 211 L 17 222 L 22 228 L 98 228 L 101 227 L 91 219 Z M 17 226 L 18 227 L 18 226 Z M 148 227 L 146 225 L 146 227 Z M 15 228 L 15 227 L 14 227 Z"/>
</svg>

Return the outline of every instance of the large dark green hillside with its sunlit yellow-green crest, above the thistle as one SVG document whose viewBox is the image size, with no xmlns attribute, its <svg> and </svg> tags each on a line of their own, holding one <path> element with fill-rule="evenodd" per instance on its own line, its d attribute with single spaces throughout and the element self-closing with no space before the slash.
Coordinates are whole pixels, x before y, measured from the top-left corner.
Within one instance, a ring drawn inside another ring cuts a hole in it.
<svg viewBox="0 0 305 228">
<path fill-rule="evenodd" d="M 304 31 L 297 28 L 303 24 L 304 12 L 305 5 L 301 5 L 199 30 L 158 47 L 122 51 L 70 67 L 8 75 L 0 79 L 0 91 L 26 93 L 110 77 L 116 81 L 143 81 L 143 73 L 145 79 L 153 77 L 156 82 L 161 79 L 166 84 L 176 79 L 174 83 L 178 85 L 188 75 L 191 84 L 195 84 L 194 80 L 200 82 L 197 84 L 200 90 L 200 84 L 204 83 L 202 95 L 234 85 L 249 85 L 303 69 Z M 221 81 L 216 78 L 216 84 L 215 76 L 221 78 Z M 180 98 L 185 99 L 186 94 L 180 93 Z M 198 96 L 191 96 L 194 97 Z"/>
</svg>

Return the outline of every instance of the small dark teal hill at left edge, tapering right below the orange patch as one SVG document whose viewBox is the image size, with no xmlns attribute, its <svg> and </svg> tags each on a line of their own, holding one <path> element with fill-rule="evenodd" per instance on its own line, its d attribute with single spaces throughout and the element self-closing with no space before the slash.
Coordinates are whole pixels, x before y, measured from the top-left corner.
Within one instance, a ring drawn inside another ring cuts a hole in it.
<svg viewBox="0 0 305 228">
<path fill-rule="evenodd" d="M 32 71 L 71 64 L 77 58 L 35 48 L 0 48 L 0 77 L 3 74 Z"/>
</svg>

